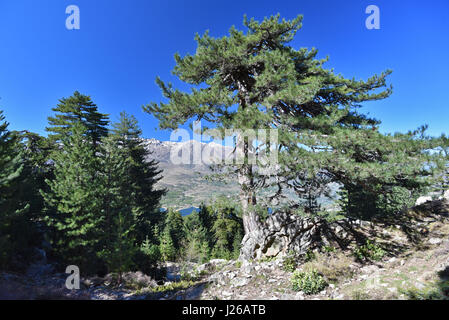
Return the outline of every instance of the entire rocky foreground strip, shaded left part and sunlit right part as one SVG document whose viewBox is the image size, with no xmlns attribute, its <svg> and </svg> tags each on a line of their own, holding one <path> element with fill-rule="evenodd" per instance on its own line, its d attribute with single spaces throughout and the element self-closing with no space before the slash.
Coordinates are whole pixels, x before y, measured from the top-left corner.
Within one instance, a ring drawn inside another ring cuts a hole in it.
<svg viewBox="0 0 449 320">
<path fill-rule="evenodd" d="M 50 265 L 38 263 L 25 275 L 0 273 L 0 299 L 447 299 L 447 207 L 424 204 L 397 225 L 360 223 L 357 234 L 380 248 L 376 259 L 355 254 L 356 244 L 345 250 L 327 246 L 299 257 L 166 263 L 161 266 L 166 276 L 157 281 L 134 272 L 125 274 L 120 285 L 113 275 L 82 279 L 79 290 L 65 288 L 68 275 L 55 274 Z M 312 295 L 294 291 L 295 270 L 316 270 L 327 286 Z"/>
</svg>

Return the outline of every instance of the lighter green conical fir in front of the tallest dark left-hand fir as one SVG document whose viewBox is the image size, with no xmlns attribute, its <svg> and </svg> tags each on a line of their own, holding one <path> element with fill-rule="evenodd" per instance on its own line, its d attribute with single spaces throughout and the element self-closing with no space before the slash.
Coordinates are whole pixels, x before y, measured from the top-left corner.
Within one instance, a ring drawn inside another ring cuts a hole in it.
<svg viewBox="0 0 449 320">
<path fill-rule="evenodd" d="M 72 125 L 62 138 L 62 148 L 52 156 L 54 179 L 46 180 L 49 191 L 42 191 L 54 248 L 65 262 L 78 265 L 86 273 L 97 267 L 96 249 L 103 220 L 99 159 L 88 134 L 82 123 Z"/>
</svg>

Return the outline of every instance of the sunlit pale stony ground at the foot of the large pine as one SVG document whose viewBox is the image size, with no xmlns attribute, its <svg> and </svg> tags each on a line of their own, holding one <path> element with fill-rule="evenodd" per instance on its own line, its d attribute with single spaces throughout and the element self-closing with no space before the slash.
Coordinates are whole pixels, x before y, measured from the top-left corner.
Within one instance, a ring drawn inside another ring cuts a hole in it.
<svg viewBox="0 0 449 320">
<path fill-rule="evenodd" d="M 375 263 L 361 263 L 342 253 L 322 253 L 300 265 L 311 266 L 328 280 L 319 294 L 291 288 L 292 272 L 281 259 L 223 265 L 208 279 L 201 299 L 317 300 L 449 298 L 449 239 L 431 238 L 423 250 L 410 250 Z M 443 295 L 438 295 L 442 293 Z"/>
</svg>

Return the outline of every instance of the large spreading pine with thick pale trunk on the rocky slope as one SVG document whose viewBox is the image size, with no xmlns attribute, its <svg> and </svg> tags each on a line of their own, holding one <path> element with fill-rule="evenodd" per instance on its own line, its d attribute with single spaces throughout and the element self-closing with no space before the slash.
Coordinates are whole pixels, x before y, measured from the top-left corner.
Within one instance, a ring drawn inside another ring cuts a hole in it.
<svg viewBox="0 0 449 320">
<path fill-rule="evenodd" d="M 345 186 L 369 188 L 369 181 L 375 180 L 415 187 L 413 176 L 422 173 L 426 161 L 421 155 L 426 145 L 413 133 L 383 135 L 379 121 L 359 111 L 361 103 L 392 93 L 386 84 L 391 71 L 366 81 L 337 75 L 324 67 L 327 59 L 316 58 L 316 49 L 289 45 L 301 28 L 302 16 L 291 21 L 279 18 L 258 22 L 245 17 L 245 32 L 232 27 L 221 38 L 208 32 L 197 35 L 196 53 L 176 54 L 173 69 L 191 92 L 157 78 L 168 102 L 144 107 L 164 129 L 198 119 L 214 123 L 221 133 L 224 129 L 278 130 L 278 165 L 266 168 L 249 161 L 256 139 L 237 136 L 243 163 L 232 168 L 240 184 L 246 234 L 262 225 L 254 209 L 260 187 L 277 188 L 276 200 L 285 189 L 295 191 L 295 180 L 313 179 L 323 172 Z M 259 145 L 259 151 L 267 146 Z"/>
</svg>

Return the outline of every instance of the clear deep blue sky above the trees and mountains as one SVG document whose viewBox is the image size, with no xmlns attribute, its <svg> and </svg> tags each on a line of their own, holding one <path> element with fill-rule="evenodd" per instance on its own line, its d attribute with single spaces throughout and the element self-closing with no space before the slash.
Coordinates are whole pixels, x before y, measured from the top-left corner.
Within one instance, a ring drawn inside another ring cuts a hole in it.
<svg viewBox="0 0 449 320">
<path fill-rule="evenodd" d="M 77 5 L 80 30 L 67 30 L 65 9 Z M 368 30 L 365 8 L 380 9 L 380 30 Z M 258 20 L 304 15 L 295 48 L 316 47 L 346 77 L 366 79 L 392 69 L 393 95 L 365 104 L 384 132 L 422 124 L 449 133 L 449 1 L 401 0 L 1 0 L 0 109 L 10 128 L 45 134 L 47 117 L 75 90 L 91 95 L 117 120 L 134 114 L 145 137 L 168 140 L 141 106 L 162 99 L 157 75 L 184 88 L 170 71 L 175 52 L 194 53 L 196 32 L 227 34 L 243 14 Z"/>
</svg>

